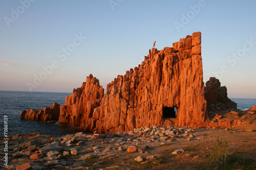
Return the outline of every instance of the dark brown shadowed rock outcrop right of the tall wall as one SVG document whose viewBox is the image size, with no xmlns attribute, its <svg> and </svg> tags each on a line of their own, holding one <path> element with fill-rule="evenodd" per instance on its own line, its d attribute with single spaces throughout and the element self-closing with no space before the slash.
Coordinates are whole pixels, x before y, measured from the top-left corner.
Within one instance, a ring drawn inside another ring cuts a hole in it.
<svg viewBox="0 0 256 170">
<path fill-rule="evenodd" d="M 237 103 L 228 99 L 226 86 L 221 86 L 220 81 L 214 77 L 211 77 L 209 81 L 205 83 L 204 93 L 207 105 L 220 104 L 228 108 L 237 108 Z"/>
</svg>

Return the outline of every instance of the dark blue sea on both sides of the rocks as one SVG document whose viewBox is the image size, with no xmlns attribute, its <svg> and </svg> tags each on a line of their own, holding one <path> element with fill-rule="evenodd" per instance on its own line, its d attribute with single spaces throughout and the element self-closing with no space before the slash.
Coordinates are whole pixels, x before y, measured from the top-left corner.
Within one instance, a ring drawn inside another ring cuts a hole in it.
<svg viewBox="0 0 256 170">
<path fill-rule="evenodd" d="M 43 109 L 54 102 L 65 104 L 66 96 L 71 93 L 60 92 L 26 92 L 0 90 L 0 136 L 4 136 L 4 117 L 8 118 L 8 135 L 40 133 L 45 135 L 65 135 L 81 132 L 78 127 L 58 125 L 58 122 L 42 122 L 21 119 L 22 110 Z M 230 98 L 238 104 L 238 109 L 245 110 L 256 105 L 256 99 Z M 83 131 L 85 132 L 85 131 Z"/>
</svg>

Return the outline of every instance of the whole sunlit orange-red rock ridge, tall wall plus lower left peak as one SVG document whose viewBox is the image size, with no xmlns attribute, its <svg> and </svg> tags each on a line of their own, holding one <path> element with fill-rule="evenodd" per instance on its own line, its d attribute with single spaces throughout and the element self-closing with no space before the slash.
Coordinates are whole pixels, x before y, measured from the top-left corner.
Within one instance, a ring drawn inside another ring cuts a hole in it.
<svg viewBox="0 0 256 170">
<path fill-rule="evenodd" d="M 204 126 L 208 119 L 201 33 L 181 38 L 161 51 L 152 48 L 142 64 L 109 83 L 105 95 L 99 81 L 90 75 L 59 110 L 59 124 L 84 130 Z M 22 117 L 34 119 L 36 115 L 23 111 Z"/>
</svg>

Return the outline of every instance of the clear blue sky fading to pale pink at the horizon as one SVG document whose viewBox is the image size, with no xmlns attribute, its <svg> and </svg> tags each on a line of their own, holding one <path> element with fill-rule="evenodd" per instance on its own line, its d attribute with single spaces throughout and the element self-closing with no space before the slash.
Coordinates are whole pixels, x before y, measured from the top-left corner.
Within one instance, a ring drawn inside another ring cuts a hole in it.
<svg viewBox="0 0 256 170">
<path fill-rule="evenodd" d="M 202 33 L 204 82 L 256 98 L 256 1 L 0 1 L 0 90 L 103 88 L 158 50 Z"/>
</svg>

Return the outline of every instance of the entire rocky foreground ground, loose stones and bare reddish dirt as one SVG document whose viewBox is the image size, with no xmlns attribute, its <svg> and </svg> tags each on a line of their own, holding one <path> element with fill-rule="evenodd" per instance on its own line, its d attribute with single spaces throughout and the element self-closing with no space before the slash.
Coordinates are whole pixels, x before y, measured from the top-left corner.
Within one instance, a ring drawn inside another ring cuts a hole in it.
<svg viewBox="0 0 256 170">
<path fill-rule="evenodd" d="M 250 141 L 249 146 L 243 143 L 248 148 L 242 147 L 241 150 L 248 150 L 248 155 L 255 159 L 255 114 L 249 115 L 249 124 L 230 128 L 152 126 L 116 132 L 113 138 L 101 138 L 82 132 L 63 136 L 16 134 L 9 136 L 9 162 L 8 166 L 2 165 L 2 168 L 168 169 L 166 165 L 174 161 L 178 164 L 173 169 L 182 169 L 183 163 L 179 159 L 190 162 L 192 167 L 203 164 L 217 137 L 239 143 L 232 145 L 238 151 L 241 149 L 241 141 L 237 137 Z M 198 151 L 200 146 L 203 148 Z M 0 155 L 4 154 L 2 148 Z"/>
</svg>

